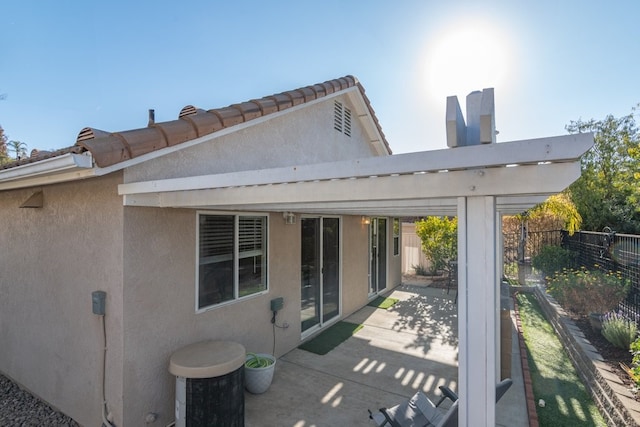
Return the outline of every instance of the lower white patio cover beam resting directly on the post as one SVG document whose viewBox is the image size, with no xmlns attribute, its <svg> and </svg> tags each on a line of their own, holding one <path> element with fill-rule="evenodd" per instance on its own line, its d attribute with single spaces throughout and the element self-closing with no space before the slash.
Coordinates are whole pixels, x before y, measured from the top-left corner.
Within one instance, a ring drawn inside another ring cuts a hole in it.
<svg viewBox="0 0 640 427">
<path fill-rule="evenodd" d="M 580 164 L 551 163 L 378 178 L 125 194 L 129 206 L 195 207 L 450 199 L 460 196 L 553 194 L 580 176 Z"/>
</svg>

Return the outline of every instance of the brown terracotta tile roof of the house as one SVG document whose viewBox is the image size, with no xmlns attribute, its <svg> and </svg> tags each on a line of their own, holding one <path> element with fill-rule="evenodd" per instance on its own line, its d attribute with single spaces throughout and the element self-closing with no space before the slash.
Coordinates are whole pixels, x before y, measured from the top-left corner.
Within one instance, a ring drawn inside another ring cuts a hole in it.
<svg viewBox="0 0 640 427">
<path fill-rule="evenodd" d="M 365 95 L 364 88 L 355 77 L 348 75 L 328 80 L 324 83 L 305 86 L 260 99 L 252 99 L 223 108 L 205 111 L 192 105 L 187 105 L 180 111 L 177 120 L 160 123 L 154 123 L 150 120 L 149 126 L 146 128 L 112 133 L 87 127 L 80 131 L 76 143 L 72 147 L 51 152 L 33 150 L 30 157 L 0 165 L 0 169 L 34 163 L 67 153 L 83 153 L 86 151 L 91 153 L 99 167 L 112 166 L 146 153 L 178 145 L 354 86 L 359 89 L 382 137 L 382 142 L 391 152 L 371 103 Z"/>
</svg>

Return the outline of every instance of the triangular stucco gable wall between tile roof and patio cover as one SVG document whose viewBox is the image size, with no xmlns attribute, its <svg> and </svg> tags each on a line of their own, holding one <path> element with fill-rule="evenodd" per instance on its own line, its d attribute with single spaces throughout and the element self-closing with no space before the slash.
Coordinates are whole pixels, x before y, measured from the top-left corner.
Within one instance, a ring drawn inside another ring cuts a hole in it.
<svg viewBox="0 0 640 427">
<path fill-rule="evenodd" d="M 336 99 L 352 108 L 346 96 Z M 313 105 L 303 104 L 300 109 L 285 110 L 285 115 L 249 122 L 250 126 L 228 135 L 213 134 L 203 138 L 205 143 L 128 169 L 125 182 L 372 156 L 373 148 L 355 116 L 350 137 L 333 129 L 333 107 L 334 100 L 325 99 Z"/>
</svg>

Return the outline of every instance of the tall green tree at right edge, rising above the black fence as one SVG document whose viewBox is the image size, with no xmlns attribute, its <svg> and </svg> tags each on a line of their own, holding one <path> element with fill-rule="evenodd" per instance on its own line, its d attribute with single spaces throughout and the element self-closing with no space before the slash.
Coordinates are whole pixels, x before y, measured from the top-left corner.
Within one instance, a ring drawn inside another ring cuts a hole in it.
<svg viewBox="0 0 640 427">
<path fill-rule="evenodd" d="M 636 108 L 616 118 L 572 121 L 570 133 L 594 132 L 594 147 L 582 157 L 582 176 L 569 187 L 583 228 L 640 233 L 640 135 Z"/>
</svg>

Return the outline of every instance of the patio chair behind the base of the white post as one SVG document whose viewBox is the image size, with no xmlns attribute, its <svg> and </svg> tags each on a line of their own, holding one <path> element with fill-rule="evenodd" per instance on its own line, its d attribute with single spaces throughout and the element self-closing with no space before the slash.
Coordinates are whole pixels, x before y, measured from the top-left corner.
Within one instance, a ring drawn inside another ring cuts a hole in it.
<svg viewBox="0 0 640 427">
<path fill-rule="evenodd" d="M 507 392 L 513 381 L 511 378 L 502 380 L 496 386 L 496 403 Z M 458 395 L 449 387 L 440 386 L 442 397 L 435 405 L 421 391 L 414 394 L 407 402 L 391 409 L 381 408 L 375 414 L 369 411 L 369 418 L 378 427 L 457 427 L 458 425 Z M 439 406 L 445 399 L 451 399 L 453 404 L 446 411 Z"/>
</svg>

